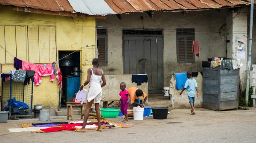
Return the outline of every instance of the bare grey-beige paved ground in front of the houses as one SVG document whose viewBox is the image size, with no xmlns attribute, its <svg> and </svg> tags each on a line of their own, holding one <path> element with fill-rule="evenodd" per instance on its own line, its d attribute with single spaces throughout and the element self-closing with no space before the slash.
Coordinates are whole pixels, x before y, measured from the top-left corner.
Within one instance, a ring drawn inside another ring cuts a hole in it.
<svg viewBox="0 0 256 143">
<path fill-rule="evenodd" d="M 0 124 L 0 143 L 256 143 L 256 110 L 216 112 L 196 109 L 196 115 L 189 115 L 189 112 L 190 109 L 174 109 L 166 120 L 150 117 L 143 121 L 130 120 L 133 128 L 86 133 L 9 133 L 6 129 L 17 128 L 15 124 L 38 123 L 35 120 L 12 120 Z"/>
</svg>

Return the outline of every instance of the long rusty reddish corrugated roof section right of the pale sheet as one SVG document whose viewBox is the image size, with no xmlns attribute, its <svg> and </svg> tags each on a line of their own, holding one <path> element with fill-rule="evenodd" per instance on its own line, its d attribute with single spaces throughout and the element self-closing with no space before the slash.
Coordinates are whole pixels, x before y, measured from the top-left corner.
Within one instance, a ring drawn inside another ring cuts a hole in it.
<svg viewBox="0 0 256 143">
<path fill-rule="evenodd" d="M 247 1 L 250 2 L 250 0 Z M 105 0 L 105 2 L 118 14 L 128 12 L 172 11 L 250 5 L 250 3 L 242 0 Z"/>
</svg>

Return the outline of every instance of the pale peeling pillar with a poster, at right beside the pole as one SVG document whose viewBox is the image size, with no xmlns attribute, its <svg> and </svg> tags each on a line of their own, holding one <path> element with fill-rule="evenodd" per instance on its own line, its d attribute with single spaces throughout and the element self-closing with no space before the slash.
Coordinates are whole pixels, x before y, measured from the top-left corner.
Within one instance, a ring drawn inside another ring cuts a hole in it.
<svg viewBox="0 0 256 143">
<path fill-rule="evenodd" d="M 227 40 L 230 41 L 227 43 L 227 58 L 242 60 L 240 79 L 243 87 L 247 75 L 247 17 L 248 8 L 238 8 L 227 14 Z"/>
</svg>

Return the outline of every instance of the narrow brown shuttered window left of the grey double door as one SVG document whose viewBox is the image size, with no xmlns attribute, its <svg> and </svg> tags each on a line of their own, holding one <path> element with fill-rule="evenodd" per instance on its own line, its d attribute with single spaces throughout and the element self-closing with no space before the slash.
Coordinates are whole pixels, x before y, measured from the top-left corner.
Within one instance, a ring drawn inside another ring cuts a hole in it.
<svg viewBox="0 0 256 143">
<path fill-rule="evenodd" d="M 98 59 L 100 66 L 108 66 L 108 32 L 97 29 Z"/>
</svg>

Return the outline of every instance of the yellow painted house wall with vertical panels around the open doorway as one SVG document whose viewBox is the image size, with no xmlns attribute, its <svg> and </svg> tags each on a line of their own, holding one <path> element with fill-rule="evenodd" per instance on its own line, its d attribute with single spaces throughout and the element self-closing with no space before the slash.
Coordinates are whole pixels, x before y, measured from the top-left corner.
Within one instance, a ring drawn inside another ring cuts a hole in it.
<svg viewBox="0 0 256 143">
<path fill-rule="evenodd" d="M 10 7 L 0 8 L 0 19 L 2 73 L 14 69 L 14 56 L 43 64 L 55 62 L 59 50 L 80 50 L 81 81 L 86 80 L 87 68 L 92 67 L 91 62 L 95 58 L 95 19 L 33 14 L 13 11 Z M 42 77 L 42 84 L 34 86 L 33 104 L 43 104 L 54 114 L 58 107 L 58 84 L 57 80 L 49 80 L 49 76 Z"/>
</svg>

